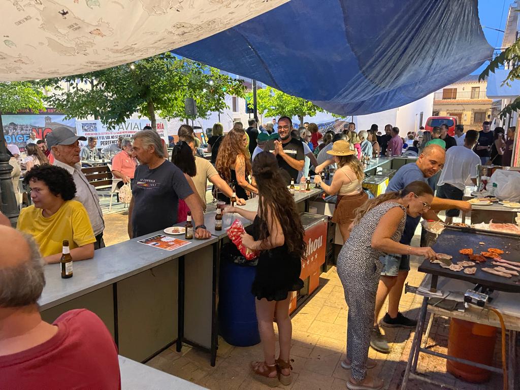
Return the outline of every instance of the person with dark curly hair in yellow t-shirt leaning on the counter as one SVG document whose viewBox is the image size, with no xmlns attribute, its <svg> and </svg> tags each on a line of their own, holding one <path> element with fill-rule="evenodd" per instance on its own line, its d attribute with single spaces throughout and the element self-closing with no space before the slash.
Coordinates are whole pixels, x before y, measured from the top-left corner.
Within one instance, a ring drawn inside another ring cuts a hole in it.
<svg viewBox="0 0 520 390">
<path fill-rule="evenodd" d="M 72 200 L 72 175 L 49 164 L 34 166 L 23 183 L 31 187 L 33 205 L 20 211 L 17 228 L 33 236 L 47 264 L 58 263 L 63 240 L 69 241 L 74 261 L 94 257 L 94 231 L 85 207 Z"/>
</svg>

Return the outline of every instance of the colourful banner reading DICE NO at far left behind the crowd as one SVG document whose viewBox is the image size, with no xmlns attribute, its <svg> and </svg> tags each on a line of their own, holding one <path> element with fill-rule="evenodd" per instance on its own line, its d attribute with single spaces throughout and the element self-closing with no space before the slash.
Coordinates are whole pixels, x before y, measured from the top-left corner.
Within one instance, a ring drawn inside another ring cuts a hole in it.
<svg viewBox="0 0 520 390">
<path fill-rule="evenodd" d="M 25 150 L 25 144 L 32 131 L 36 133 L 36 138 L 44 137 L 56 127 L 67 127 L 75 131 L 76 119 L 65 119 L 65 115 L 56 112 L 54 108 L 40 113 L 6 114 L 2 115 L 4 134 L 7 145 L 14 144 Z"/>
</svg>

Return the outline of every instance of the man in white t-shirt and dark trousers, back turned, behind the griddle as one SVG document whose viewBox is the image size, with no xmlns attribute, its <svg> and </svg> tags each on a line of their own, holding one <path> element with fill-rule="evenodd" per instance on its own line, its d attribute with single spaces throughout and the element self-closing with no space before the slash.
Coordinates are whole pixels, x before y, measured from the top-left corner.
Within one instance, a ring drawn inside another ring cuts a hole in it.
<svg viewBox="0 0 520 390">
<path fill-rule="evenodd" d="M 464 146 L 453 146 L 446 151 L 446 161 L 437 183 L 437 198 L 462 200 L 466 181 L 471 179 L 477 184 L 477 165 L 480 158 L 472 150 L 478 141 L 478 132 L 468 130 L 464 137 Z M 459 210 L 446 210 L 446 223 L 459 216 Z"/>
</svg>

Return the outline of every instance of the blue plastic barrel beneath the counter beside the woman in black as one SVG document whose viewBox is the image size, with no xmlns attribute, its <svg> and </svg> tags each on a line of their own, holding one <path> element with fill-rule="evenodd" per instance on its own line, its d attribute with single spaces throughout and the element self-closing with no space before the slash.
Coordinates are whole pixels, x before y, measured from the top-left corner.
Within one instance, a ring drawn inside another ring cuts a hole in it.
<svg viewBox="0 0 520 390">
<path fill-rule="evenodd" d="M 255 297 L 251 294 L 256 267 L 236 264 L 228 256 L 222 257 L 218 301 L 219 333 L 228 344 L 237 347 L 258 344 L 260 334 Z"/>
</svg>

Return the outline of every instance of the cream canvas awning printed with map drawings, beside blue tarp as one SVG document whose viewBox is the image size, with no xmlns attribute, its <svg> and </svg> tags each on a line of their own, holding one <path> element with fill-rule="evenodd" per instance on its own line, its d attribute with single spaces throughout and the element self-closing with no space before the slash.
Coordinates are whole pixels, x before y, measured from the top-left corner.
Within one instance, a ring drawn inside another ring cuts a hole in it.
<svg viewBox="0 0 520 390">
<path fill-rule="evenodd" d="M 0 82 L 85 73 L 150 57 L 288 1 L 4 0 Z"/>
</svg>

